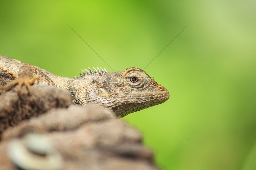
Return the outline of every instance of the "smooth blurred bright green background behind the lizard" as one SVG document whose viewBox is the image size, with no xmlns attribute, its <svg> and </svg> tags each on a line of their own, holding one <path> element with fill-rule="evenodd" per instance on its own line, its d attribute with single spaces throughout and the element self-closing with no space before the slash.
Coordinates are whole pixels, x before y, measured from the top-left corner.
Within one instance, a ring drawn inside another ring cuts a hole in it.
<svg viewBox="0 0 256 170">
<path fill-rule="evenodd" d="M 144 70 L 170 99 L 124 117 L 162 169 L 256 169 L 256 1 L 1 1 L 0 55 L 72 77 Z M 69 26 L 87 42 L 111 69 Z"/>
</svg>

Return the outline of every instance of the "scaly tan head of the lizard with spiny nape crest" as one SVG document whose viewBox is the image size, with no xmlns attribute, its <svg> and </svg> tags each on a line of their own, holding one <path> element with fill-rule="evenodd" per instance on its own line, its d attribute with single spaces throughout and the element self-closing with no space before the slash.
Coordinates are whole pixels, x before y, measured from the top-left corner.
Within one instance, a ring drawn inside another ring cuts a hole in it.
<svg viewBox="0 0 256 170">
<path fill-rule="evenodd" d="M 70 83 L 74 103 L 99 104 L 112 109 L 118 117 L 161 104 L 169 92 L 139 68 L 109 73 L 103 69 L 87 71 Z"/>
</svg>

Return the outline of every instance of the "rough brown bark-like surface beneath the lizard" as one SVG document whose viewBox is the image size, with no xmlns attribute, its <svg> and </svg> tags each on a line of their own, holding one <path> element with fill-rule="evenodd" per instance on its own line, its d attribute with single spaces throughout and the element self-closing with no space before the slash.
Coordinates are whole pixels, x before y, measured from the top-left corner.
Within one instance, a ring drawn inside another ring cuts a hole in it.
<svg viewBox="0 0 256 170">
<path fill-rule="evenodd" d="M 157 169 L 142 135 L 110 109 L 75 106 L 52 86 L 30 91 L 0 95 L 1 169 Z"/>
</svg>

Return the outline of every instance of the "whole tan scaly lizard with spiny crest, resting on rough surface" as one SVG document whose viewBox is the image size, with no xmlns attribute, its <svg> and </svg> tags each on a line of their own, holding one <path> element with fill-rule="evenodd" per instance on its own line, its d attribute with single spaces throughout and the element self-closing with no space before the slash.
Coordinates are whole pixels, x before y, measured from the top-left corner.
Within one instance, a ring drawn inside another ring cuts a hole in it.
<svg viewBox="0 0 256 170">
<path fill-rule="evenodd" d="M 94 71 L 93 71 L 94 70 Z M 9 83 L 1 83 L 6 91 L 14 85 L 29 86 L 35 82 L 68 90 L 77 105 L 97 104 L 110 108 L 117 117 L 146 109 L 168 100 L 169 91 L 158 84 L 142 69 L 127 68 L 124 71 L 107 72 L 97 66 L 79 72 L 80 77 L 61 77 L 37 66 L 0 55 L 0 73 L 10 77 Z M 0 77 L 1 80 L 2 77 Z"/>
</svg>

